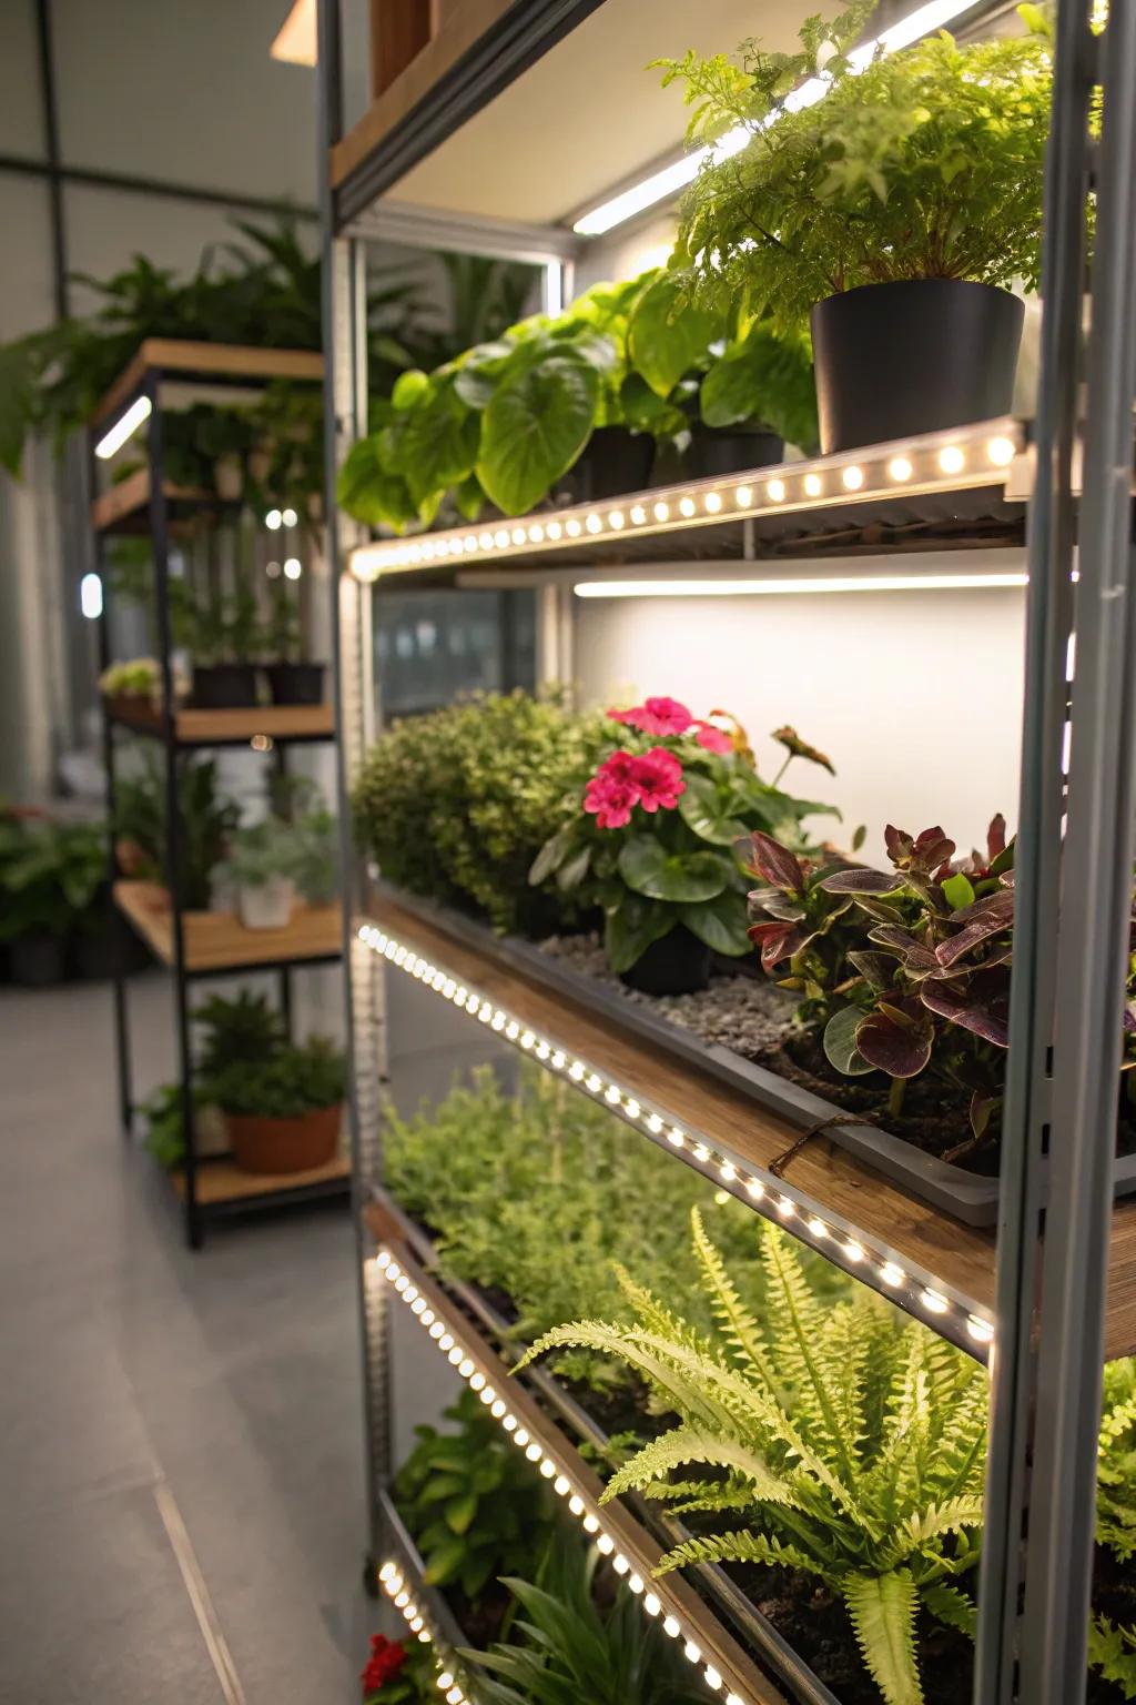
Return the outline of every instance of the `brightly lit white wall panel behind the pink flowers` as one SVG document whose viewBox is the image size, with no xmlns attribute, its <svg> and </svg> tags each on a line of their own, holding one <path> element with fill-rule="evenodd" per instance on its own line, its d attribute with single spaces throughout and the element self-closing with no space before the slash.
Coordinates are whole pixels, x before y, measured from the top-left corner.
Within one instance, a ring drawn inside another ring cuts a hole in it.
<svg viewBox="0 0 1136 1705">
<path fill-rule="evenodd" d="M 1012 551 L 952 552 L 940 563 L 967 573 L 1024 568 Z M 894 573 L 896 559 L 811 566 Z M 983 844 L 995 812 L 1017 818 L 1022 590 L 574 605 L 582 702 L 627 704 L 657 692 L 695 716 L 732 711 L 766 777 L 783 755 L 768 735 L 790 723 L 833 759 L 836 779 L 797 760 L 785 786 L 838 805 L 848 830 L 867 824 L 867 858 L 882 858 L 887 822 L 909 830 L 942 824 L 969 849 Z"/>
</svg>

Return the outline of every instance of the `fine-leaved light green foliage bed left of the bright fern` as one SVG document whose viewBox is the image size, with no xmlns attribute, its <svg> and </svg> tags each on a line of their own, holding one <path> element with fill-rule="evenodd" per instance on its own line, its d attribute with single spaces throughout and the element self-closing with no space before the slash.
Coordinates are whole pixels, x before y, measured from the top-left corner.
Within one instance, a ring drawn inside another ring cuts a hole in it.
<svg viewBox="0 0 1136 1705">
<path fill-rule="evenodd" d="M 514 1093 L 482 1067 L 417 1117 L 388 1115 L 383 1153 L 392 1192 L 436 1233 L 443 1272 L 504 1291 L 525 1342 L 581 1315 L 630 1325 L 617 1258 L 709 1328 L 686 1229 L 695 1205 L 746 1294 L 756 1303 L 763 1292 L 751 1211 L 538 1067 L 521 1071 Z M 816 1269 L 829 1294 L 843 1287 L 829 1263 Z M 559 1369 L 600 1391 L 623 1378 L 593 1354 L 569 1354 Z"/>
</svg>

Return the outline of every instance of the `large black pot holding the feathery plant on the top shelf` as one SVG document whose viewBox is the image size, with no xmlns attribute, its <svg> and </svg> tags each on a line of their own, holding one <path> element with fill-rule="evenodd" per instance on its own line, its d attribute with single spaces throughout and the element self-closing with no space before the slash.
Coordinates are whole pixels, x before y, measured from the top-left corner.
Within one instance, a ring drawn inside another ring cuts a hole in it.
<svg viewBox="0 0 1136 1705">
<path fill-rule="evenodd" d="M 1017 297 L 959 278 L 862 285 L 812 309 L 821 450 L 853 450 L 1008 414 Z"/>
</svg>

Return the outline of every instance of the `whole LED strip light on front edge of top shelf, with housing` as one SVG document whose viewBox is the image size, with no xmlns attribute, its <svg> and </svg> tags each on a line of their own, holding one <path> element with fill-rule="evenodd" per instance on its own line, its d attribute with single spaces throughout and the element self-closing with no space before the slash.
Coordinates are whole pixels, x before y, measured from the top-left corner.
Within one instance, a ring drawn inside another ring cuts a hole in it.
<svg viewBox="0 0 1136 1705">
<path fill-rule="evenodd" d="M 777 512 L 1005 486 L 1024 448 L 1020 421 L 1007 416 L 903 443 L 666 486 L 617 505 L 576 505 L 491 527 L 456 527 L 364 544 L 351 552 L 351 573 L 356 580 L 373 581 L 380 575 L 455 561 L 485 563 L 567 551 L 579 544 L 618 544 L 632 535 L 714 527 Z"/>
</svg>

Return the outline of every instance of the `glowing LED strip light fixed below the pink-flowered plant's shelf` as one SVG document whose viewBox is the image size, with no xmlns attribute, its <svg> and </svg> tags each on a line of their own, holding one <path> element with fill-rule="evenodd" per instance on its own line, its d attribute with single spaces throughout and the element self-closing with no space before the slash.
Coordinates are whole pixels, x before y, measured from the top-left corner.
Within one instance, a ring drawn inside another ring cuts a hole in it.
<svg viewBox="0 0 1136 1705">
<path fill-rule="evenodd" d="M 712 1183 L 726 1187 L 737 1200 L 746 1202 L 775 1224 L 792 1221 L 794 1234 L 804 1243 L 899 1303 L 908 1313 L 927 1320 L 940 1337 L 950 1338 L 978 1361 L 986 1361 L 995 1335 L 993 1325 L 986 1315 L 976 1313 L 964 1299 L 954 1296 L 950 1287 L 908 1274 L 886 1250 L 869 1250 L 848 1226 L 833 1217 L 823 1217 L 806 1197 L 792 1194 L 792 1187 L 783 1180 L 773 1178 L 760 1168 L 751 1168 L 737 1156 L 688 1132 L 664 1108 L 606 1078 L 588 1061 L 559 1047 L 550 1037 L 540 1035 L 508 1008 L 497 1006 L 470 984 L 451 977 L 450 972 L 380 929 L 378 924 L 359 924 L 356 934 L 366 948 L 382 955 L 397 970 L 426 984 L 434 994 L 467 1011 L 470 1018 L 477 1018 L 494 1035 L 540 1061 L 547 1071 L 565 1076 L 659 1147 L 681 1151 L 688 1165 Z"/>
</svg>

